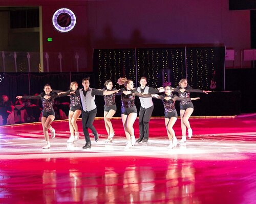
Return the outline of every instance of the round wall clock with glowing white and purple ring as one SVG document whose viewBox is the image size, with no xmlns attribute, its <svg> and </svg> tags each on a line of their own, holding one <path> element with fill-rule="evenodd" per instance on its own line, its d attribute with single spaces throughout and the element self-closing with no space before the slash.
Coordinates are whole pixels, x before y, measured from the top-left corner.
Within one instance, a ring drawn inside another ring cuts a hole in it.
<svg viewBox="0 0 256 204">
<path fill-rule="evenodd" d="M 53 14 L 52 24 L 57 31 L 66 33 L 75 27 L 76 16 L 70 9 L 62 8 Z"/>
</svg>

